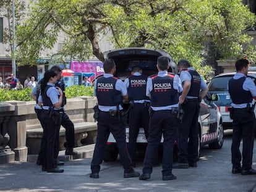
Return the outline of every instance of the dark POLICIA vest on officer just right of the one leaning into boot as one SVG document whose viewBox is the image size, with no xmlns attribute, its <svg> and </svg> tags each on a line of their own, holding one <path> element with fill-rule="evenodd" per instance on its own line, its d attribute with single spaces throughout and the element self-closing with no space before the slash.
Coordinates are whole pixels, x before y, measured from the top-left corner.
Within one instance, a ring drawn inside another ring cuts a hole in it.
<svg viewBox="0 0 256 192">
<path fill-rule="evenodd" d="M 150 92 L 152 107 L 171 106 L 178 103 L 178 93 L 173 88 L 173 73 L 168 73 L 165 77 L 155 75 L 151 79 L 153 87 L 153 90 Z"/>
</svg>

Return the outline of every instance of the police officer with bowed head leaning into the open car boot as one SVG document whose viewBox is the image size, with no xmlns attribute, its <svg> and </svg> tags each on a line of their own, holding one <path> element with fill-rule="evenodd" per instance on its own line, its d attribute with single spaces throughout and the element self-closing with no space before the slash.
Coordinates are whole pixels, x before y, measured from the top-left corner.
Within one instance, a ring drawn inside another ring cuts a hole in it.
<svg viewBox="0 0 256 192">
<path fill-rule="evenodd" d="M 148 106 L 150 98 L 146 96 L 147 76 L 142 75 L 140 66 L 132 68 L 132 75 L 124 80 L 129 96 L 129 143 L 128 150 L 135 167 L 136 141 L 140 126 L 143 127 L 145 137 L 148 138 Z"/>
</svg>

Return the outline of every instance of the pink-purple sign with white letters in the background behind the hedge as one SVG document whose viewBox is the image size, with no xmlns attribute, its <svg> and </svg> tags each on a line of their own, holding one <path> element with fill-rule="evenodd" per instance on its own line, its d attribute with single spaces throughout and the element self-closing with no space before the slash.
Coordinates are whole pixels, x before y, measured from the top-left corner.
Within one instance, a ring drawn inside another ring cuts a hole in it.
<svg viewBox="0 0 256 192">
<path fill-rule="evenodd" d="M 92 81 L 98 75 L 104 73 L 103 62 L 100 61 L 72 61 L 70 64 L 70 69 L 76 73 L 94 73 L 94 75 L 90 77 L 90 81 Z"/>
</svg>

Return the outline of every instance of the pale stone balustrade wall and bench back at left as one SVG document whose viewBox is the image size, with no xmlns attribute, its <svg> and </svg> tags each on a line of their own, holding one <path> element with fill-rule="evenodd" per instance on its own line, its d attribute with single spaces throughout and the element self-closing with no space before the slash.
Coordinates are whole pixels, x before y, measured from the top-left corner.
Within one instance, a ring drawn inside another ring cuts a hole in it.
<svg viewBox="0 0 256 192">
<path fill-rule="evenodd" d="M 86 96 L 67 99 L 66 113 L 74 123 L 95 122 L 96 101 Z M 27 130 L 41 127 L 34 106 L 34 101 L 0 102 L 0 164 L 27 161 Z"/>
</svg>

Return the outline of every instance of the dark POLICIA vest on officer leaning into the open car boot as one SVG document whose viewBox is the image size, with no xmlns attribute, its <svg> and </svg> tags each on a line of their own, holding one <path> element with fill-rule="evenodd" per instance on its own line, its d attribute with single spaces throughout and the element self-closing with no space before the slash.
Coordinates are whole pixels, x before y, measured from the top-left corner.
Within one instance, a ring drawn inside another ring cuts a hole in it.
<svg viewBox="0 0 256 192">
<path fill-rule="evenodd" d="M 132 100 L 150 100 L 146 96 L 147 77 L 145 75 L 135 76 L 129 78 L 129 87 L 127 88 L 129 101 Z"/>
</svg>

